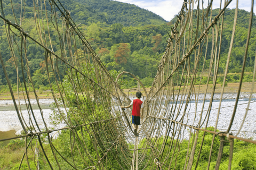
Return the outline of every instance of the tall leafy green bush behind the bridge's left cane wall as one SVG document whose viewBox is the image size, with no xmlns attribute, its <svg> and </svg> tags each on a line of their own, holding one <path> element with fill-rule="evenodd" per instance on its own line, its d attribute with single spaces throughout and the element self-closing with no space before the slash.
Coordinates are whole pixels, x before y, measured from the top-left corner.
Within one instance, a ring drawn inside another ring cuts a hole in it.
<svg viewBox="0 0 256 170">
<path fill-rule="evenodd" d="M 97 81 L 97 76 L 95 75 L 95 68 L 93 67 L 93 64 L 84 64 L 82 66 L 86 66 L 88 69 L 83 70 L 83 74 L 85 76 L 90 76 L 90 78 L 95 81 Z M 119 72 L 112 70 L 110 71 L 110 74 L 115 79 Z M 73 83 L 71 83 L 70 79 L 73 80 Z M 86 87 L 82 86 L 78 88 L 77 84 L 79 82 L 83 82 L 86 84 Z M 122 84 L 122 83 L 121 83 Z M 85 79 L 84 76 L 81 74 L 76 75 L 76 72 L 74 70 L 69 69 L 68 74 L 65 75 L 62 81 L 62 87 L 61 94 L 65 96 L 64 104 L 68 106 L 67 113 L 62 111 L 57 111 L 57 109 L 53 109 L 53 114 L 50 116 L 50 119 L 53 121 L 54 124 L 59 124 L 63 121 L 62 116 L 69 117 L 66 118 L 66 120 L 69 121 L 72 125 L 78 125 L 78 124 L 84 124 L 85 122 L 95 122 L 100 120 L 107 120 L 108 119 L 108 113 L 106 113 L 105 109 L 101 109 L 102 107 L 108 107 L 107 102 L 101 100 L 101 102 L 97 103 L 97 100 L 99 97 L 94 94 L 93 88 L 97 88 L 95 84 L 92 84 L 89 82 L 89 80 Z M 78 94 L 74 94 L 73 92 L 70 92 L 72 88 L 77 88 Z M 54 90 L 57 90 L 57 86 L 54 87 Z M 93 95 L 93 99 L 87 98 L 87 95 Z M 62 100 L 61 97 L 58 97 L 58 101 Z M 108 100 L 107 97 L 105 99 Z M 55 104 L 52 105 L 54 108 L 56 107 Z M 82 113 L 83 116 L 81 116 L 81 110 L 84 112 Z M 85 117 L 83 119 L 82 117 Z M 105 131 L 101 131 L 101 128 L 104 128 Z M 105 132 L 111 132 L 113 130 L 113 127 L 109 125 L 108 122 L 102 122 L 99 124 L 92 124 L 92 125 L 85 125 L 78 127 L 71 130 L 63 130 L 59 134 L 59 137 L 57 139 L 54 139 L 52 141 L 53 146 L 59 151 L 59 153 L 69 162 L 74 163 L 76 165 L 76 168 L 78 169 L 84 169 L 84 167 L 92 166 L 95 163 L 92 162 L 92 160 L 97 160 L 98 157 L 103 157 L 103 155 L 107 152 L 106 148 L 110 148 L 111 143 L 102 141 L 109 141 L 113 139 L 111 136 L 111 133 L 106 134 Z M 78 137 L 80 140 L 78 140 L 77 135 L 75 135 L 75 131 L 78 134 Z M 83 139 L 83 140 L 82 140 Z M 115 139 L 115 138 L 114 138 Z M 81 143 L 82 141 L 82 143 Z M 72 151 L 70 151 L 70 142 L 76 142 L 75 147 Z M 84 143 L 83 143 L 84 142 Z M 95 147 L 97 142 L 97 147 Z M 123 145 L 127 145 L 126 143 L 123 143 Z M 86 147 L 84 147 L 86 146 Z M 49 146 L 47 146 L 49 147 Z M 116 148 L 117 151 L 121 151 L 120 148 Z M 103 158 L 102 162 L 106 162 L 106 159 L 108 160 L 107 166 L 111 167 L 111 169 L 122 169 L 118 163 L 116 162 L 117 159 L 121 159 L 120 156 L 114 156 L 111 154 L 112 151 L 110 151 L 107 155 L 107 158 Z M 74 156 L 74 159 L 72 158 Z M 63 160 L 61 157 L 59 157 L 59 164 L 62 169 L 70 169 L 70 165 L 68 165 L 65 160 Z M 55 168 L 58 168 L 57 163 L 54 160 L 54 157 L 49 152 L 49 159 L 52 162 L 52 166 Z M 93 163 L 93 164 L 92 164 Z M 119 162 L 122 167 L 126 167 L 126 165 L 121 161 Z"/>
</svg>

